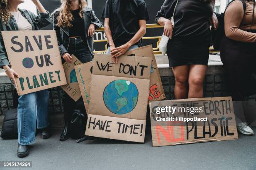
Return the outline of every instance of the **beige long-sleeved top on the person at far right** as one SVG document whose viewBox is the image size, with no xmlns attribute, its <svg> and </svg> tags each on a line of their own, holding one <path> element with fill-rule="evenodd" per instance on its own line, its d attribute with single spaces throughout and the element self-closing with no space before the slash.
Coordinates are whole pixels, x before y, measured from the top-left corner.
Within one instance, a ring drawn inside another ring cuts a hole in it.
<svg viewBox="0 0 256 170">
<path fill-rule="evenodd" d="M 256 33 L 245 30 L 256 30 L 256 7 L 252 24 L 253 1 L 246 0 L 246 11 L 243 11 L 241 0 L 232 2 L 225 12 L 225 35 L 241 42 L 256 42 Z"/>
</svg>

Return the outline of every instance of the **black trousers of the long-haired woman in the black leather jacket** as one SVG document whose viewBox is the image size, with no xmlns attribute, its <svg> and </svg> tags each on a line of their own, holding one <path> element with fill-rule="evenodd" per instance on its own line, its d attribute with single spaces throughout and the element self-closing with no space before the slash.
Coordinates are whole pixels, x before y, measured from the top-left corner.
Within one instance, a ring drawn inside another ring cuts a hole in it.
<svg viewBox="0 0 256 170">
<path fill-rule="evenodd" d="M 68 52 L 70 55 L 74 55 L 82 63 L 92 61 L 92 54 L 88 48 L 87 41 L 82 37 L 70 38 Z M 86 115 L 84 102 L 82 97 L 80 97 L 77 102 L 75 102 L 67 93 L 64 93 L 64 112 L 67 114 L 67 117 L 70 119 L 74 110 L 80 110 L 84 115 Z"/>
</svg>

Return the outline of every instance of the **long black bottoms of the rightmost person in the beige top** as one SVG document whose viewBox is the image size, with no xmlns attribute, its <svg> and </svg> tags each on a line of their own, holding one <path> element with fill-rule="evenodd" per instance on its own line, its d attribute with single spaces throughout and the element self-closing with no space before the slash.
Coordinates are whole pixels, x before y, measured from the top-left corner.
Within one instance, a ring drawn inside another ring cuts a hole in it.
<svg viewBox="0 0 256 170">
<path fill-rule="evenodd" d="M 227 73 L 228 88 L 235 101 L 234 112 L 241 122 L 246 122 L 249 116 L 245 117 L 243 113 L 246 95 L 256 94 L 256 82 L 250 79 L 251 74 L 256 73 L 255 49 L 256 43 L 239 42 L 228 37 L 223 37 L 220 43 L 220 58 Z"/>
</svg>

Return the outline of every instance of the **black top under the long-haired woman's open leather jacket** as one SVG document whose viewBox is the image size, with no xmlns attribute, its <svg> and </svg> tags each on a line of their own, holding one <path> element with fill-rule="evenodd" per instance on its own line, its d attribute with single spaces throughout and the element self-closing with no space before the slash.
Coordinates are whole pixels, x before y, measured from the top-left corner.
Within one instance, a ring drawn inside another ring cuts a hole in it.
<svg viewBox="0 0 256 170">
<path fill-rule="evenodd" d="M 73 20 L 70 22 L 73 27 L 69 27 L 69 37 L 85 37 L 84 19 L 80 17 L 80 9 L 72 10 Z"/>
</svg>

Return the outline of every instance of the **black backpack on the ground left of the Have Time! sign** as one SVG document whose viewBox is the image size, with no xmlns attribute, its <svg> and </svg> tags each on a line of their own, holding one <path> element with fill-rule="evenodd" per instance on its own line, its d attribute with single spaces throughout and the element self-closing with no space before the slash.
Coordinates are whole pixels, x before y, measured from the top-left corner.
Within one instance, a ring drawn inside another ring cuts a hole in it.
<svg viewBox="0 0 256 170">
<path fill-rule="evenodd" d="M 70 137 L 80 139 L 84 136 L 87 117 L 80 110 L 74 110 L 70 122 Z"/>
</svg>

